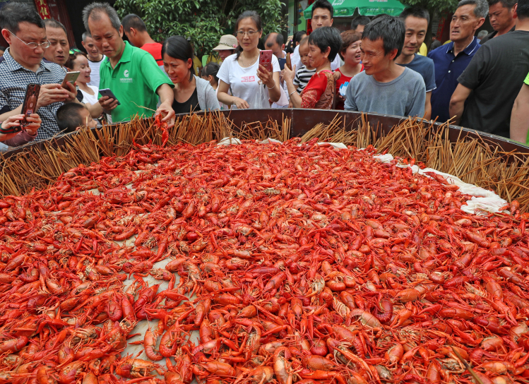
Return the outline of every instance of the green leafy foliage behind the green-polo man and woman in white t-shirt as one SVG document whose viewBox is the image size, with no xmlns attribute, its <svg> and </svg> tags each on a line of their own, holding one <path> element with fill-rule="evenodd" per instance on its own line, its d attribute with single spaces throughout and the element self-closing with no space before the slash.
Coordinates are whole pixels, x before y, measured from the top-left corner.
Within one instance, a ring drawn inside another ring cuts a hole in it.
<svg viewBox="0 0 529 384">
<path fill-rule="evenodd" d="M 156 41 L 172 35 L 190 37 L 198 56 L 210 54 L 225 31 L 232 32 L 240 13 L 256 11 L 263 21 L 263 34 L 280 32 L 285 25 L 280 0 L 117 0 L 122 18 L 140 16 Z"/>
</svg>

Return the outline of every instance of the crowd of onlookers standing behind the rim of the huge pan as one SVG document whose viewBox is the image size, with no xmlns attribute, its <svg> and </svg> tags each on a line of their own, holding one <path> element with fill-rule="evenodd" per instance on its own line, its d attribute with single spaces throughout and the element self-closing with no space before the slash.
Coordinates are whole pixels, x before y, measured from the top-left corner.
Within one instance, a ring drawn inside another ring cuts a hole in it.
<svg viewBox="0 0 529 384">
<path fill-rule="evenodd" d="M 285 44 L 279 33 L 263 36 L 258 13 L 244 11 L 202 67 L 189 38 L 155 42 L 140 17 L 120 20 L 107 3 L 83 10 L 85 52 L 69 47 L 58 21 L 42 20 L 23 3 L 6 4 L 0 141 L 8 148 L 136 115 L 160 114 L 171 126 L 181 113 L 295 107 L 451 119 L 529 143 L 529 0 L 461 0 L 450 40 L 434 40 L 429 50 L 429 12 L 422 8 L 398 18 L 359 16 L 341 33 L 333 13 L 331 3 L 316 0 L 314 30 Z M 487 16 L 494 31 L 477 33 Z M 263 49 L 272 53 L 269 66 L 260 60 Z M 76 82 L 64 83 L 71 71 Z M 32 83 L 40 95 L 25 116 Z"/>
</svg>

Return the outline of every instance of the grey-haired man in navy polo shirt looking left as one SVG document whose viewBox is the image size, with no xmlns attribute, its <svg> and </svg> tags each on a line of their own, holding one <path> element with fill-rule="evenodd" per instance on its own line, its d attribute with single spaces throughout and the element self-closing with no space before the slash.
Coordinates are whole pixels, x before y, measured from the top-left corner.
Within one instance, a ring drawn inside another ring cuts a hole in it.
<svg viewBox="0 0 529 384">
<path fill-rule="evenodd" d="M 450 40 L 428 54 L 435 65 L 435 83 L 432 92 L 432 119 L 444 122 L 450 119 L 450 98 L 458 86 L 458 77 L 481 46 L 474 34 L 485 22 L 489 12 L 486 0 L 462 0 L 450 23 Z"/>
</svg>

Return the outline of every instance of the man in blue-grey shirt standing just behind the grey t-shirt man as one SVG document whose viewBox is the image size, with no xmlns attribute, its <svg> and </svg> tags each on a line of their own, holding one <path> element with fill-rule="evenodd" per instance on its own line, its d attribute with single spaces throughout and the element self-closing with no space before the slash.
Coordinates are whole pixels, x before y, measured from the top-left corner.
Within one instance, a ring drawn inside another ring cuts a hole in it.
<svg viewBox="0 0 529 384">
<path fill-rule="evenodd" d="M 424 119 L 429 120 L 432 116 L 432 90 L 435 85 L 434 61 L 426 56 L 417 54 L 426 37 L 430 16 L 423 8 L 406 8 L 400 13 L 400 18 L 404 22 L 406 34 L 404 37 L 404 47 L 395 62 L 400 66 L 405 66 L 422 76 L 426 85 L 426 102 L 424 104 Z"/>
</svg>

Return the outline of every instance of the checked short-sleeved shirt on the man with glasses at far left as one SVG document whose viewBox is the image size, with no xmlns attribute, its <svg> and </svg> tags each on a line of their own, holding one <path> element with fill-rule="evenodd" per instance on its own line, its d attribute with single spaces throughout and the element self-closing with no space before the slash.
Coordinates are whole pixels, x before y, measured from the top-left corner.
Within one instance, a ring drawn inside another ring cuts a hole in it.
<svg viewBox="0 0 529 384">
<path fill-rule="evenodd" d="M 18 64 L 9 51 L 10 48 L 4 52 L 0 62 L 0 113 L 2 114 L 16 109 L 24 102 L 28 84 L 61 84 L 64 79 L 64 69 L 61 66 L 41 61 L 40 67 L 33 72 Z M 37 140 L 47 140 L 59 133 L 56 114 L 62 104 L 62 102 L 54 102 L 39 108 L 38 114 L 42 119 L 42 125 L 37 131 Z"/>
</svg>

